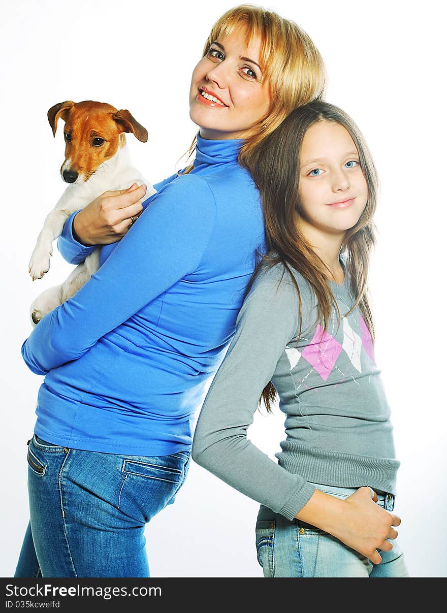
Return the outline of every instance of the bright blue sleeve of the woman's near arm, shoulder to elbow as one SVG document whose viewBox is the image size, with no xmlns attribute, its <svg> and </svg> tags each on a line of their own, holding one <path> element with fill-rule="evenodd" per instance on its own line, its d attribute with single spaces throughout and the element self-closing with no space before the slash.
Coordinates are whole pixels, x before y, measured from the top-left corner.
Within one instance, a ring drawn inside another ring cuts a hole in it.
<svg viewBox="0 0 447 613">
<path fill-rule="evenodd" d="M 196 270 L 216 204 L 207 181 L 185 175 L 151 197 L 101 268 L 69 300 L 45 315 L 21 353 L 37 375 L 83 356 L 99 338 Z"/>
</svg>

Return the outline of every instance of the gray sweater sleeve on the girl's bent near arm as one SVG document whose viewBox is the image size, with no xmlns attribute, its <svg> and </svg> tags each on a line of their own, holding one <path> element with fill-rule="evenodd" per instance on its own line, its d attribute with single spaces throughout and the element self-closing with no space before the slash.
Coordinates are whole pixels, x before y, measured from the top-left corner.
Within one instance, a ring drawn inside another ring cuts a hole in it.
<svg viewBox="0 0 447 613">
<path fill-rule="evenodd" d="M 259 275 L 243 302 L 234 338 L 202 406 L 194 433 L 196 463 L 239 492 L 292 520 L 315 487 L 246 438 L 262 390 L 299 326 L 297 293 L 278 267 Z"/>
</svg>

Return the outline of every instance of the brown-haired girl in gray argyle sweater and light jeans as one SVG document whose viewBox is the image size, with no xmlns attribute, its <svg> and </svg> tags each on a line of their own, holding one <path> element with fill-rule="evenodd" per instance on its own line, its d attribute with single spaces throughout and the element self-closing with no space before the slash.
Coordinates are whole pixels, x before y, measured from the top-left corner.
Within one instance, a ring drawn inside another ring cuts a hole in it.
<svg viewBox="0 0 447 613">
<path fill-rule="evenodd" d="M 367 145 L 341 109 L 311 102 L 248 167 L 270 253 L 202 407 L 193 459 L 261 503 L 264 576 L 408 576 L 367 297 L 377 194 Z M 246 439 L 259 398 L 269 409 L 276 392 L 286 415 L 278 464 Z"/>
</svg>

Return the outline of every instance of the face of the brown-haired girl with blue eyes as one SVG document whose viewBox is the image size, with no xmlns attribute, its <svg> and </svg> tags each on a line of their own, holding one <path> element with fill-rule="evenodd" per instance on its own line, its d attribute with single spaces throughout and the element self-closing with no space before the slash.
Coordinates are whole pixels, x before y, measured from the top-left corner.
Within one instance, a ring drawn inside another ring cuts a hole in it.
<svg viewBox="0 0 447 613">
<path fill-rule="evenodd" d="M 368 186 L 350 133 L 334 121 L 318 121 L 300 152 L 300 227 L 344 235 L 366 206 Z"/>
</svg>

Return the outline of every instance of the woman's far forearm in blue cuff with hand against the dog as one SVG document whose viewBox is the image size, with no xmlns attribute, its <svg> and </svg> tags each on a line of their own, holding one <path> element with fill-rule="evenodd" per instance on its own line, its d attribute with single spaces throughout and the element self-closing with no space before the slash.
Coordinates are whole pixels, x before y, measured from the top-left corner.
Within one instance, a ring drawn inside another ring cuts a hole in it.
<svg viewBox="0 0 447 613">
<path fill-rule="evenodd" d="M 172 175 L 154 185 L 154 188 L 160 191 L 176 177 L 177 174 Z M 129 225 L 129 222 L 123 222 L 123 219 L 128 220 L 132 215 L 139 215 L 142 208 L 147 207 L 150 198 L 140 204 L 145 193 L 146 190 L 142 186 L 104 192 L 85 208 L 72 213 L 58 238 L 58 249 L 62 257 L 69 264 L 81 264 L 96 245 L 110 245 L 123 238 Z M 74 226 L 75 218 L 77 227 Z"/>
</svg>

